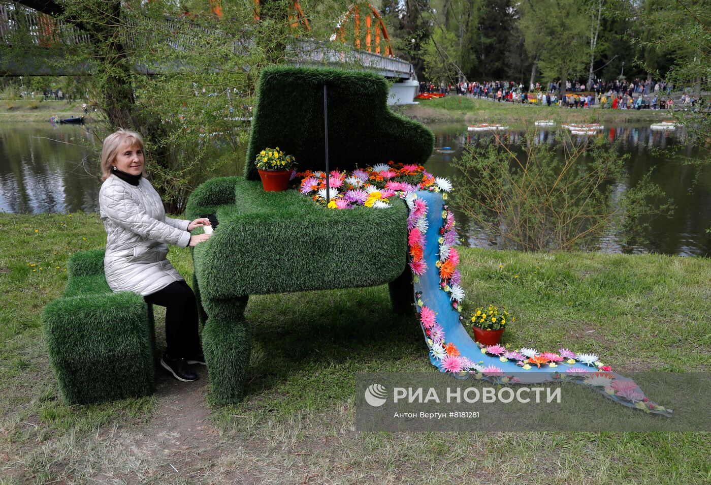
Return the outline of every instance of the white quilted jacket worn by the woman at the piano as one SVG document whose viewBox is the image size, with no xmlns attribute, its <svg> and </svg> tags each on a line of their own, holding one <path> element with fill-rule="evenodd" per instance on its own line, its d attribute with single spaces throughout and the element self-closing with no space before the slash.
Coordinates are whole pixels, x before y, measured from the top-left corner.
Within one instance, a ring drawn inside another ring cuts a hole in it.
<svg viewBox="0 0 711 485">
<path fill-rule="evenodd" d="M 113 291 L 146 296 L 183 281 L 166 256 L 168 244 L 188 246 L 190 221 L 166 217 L 151 182 L 141 177 L 134 186 L 112 175 L 101 186 L 99 204 L 107 234 L 104 269 Z"/>
</svg>

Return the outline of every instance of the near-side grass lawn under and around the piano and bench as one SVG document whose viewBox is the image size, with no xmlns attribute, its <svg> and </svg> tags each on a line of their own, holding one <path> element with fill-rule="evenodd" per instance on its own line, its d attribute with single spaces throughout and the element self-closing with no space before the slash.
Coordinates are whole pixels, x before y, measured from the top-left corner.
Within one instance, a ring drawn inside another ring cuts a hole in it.
<svg viewBox="0 0 711 485">
<path fill-rule="evenodd" d="M 97 214 L 0 214 L 0 483 L 701 484 L 707 433 L 353 431 L 355 372 L 435 372 L 387 287 L 250 298 L 247 399 L 209 406 L 209 385 L 159 375 L 154 397 L 63 405 L 42 308 L 68 254 L 101 248 Z M 191 281 L 186 249 L 170 259 Z M 515 312 L 506 342 L 570 345 L 620 372 L 711 367 L 711 261 L 463 249 L 474 303 Z M 156 312 L 159 345 L 164 315 Z M 603 397 L 592 395 L 591 405 Z M 622 412 L 622 411 L 621 411 Z M 633 411 L 634 412 L 634 411 Z"/>
</svg>

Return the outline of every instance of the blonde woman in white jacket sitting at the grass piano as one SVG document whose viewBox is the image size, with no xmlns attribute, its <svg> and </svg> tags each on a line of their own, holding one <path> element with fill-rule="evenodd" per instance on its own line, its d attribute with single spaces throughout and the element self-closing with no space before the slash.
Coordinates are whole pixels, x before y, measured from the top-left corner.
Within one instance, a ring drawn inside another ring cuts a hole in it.
<svg viewBox="0 0 711 485">
<path fill-rule="evenodd" d="M 135 291 L 147 303 L 166 307 L 166 353 L 163 366 L 183 382 L 198 379 L 188 364 L 205 365 L 198 336 L 198 308 L 190 286 L 171 266 L 168 244 L 187 247 L 210 234 L 190 231 L 208 219 L 183 221 L 166 217 L 161 197 L 144 175 L 143 139 L 119 129 L 104 140 L 99 192 L 100 217 L 106 229 L 104 268 L 113 291 Z"/>
</svg>

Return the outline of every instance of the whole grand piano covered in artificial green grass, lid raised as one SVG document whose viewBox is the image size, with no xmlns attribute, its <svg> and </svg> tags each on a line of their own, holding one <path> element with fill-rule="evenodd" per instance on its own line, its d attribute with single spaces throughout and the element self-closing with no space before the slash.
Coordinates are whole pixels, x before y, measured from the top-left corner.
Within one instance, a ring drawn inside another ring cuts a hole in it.
<svg viewBox="0 0 711 485">
<path fill-rule="evenodd" d="M 390 283 L 393 306 L 412 311 L 407 207 L 332 210 L 295 190 L 264 192 L 254 165 L 264 147 L 294 155 L 300 170 L 325 170 L 328 87 L 330 170 L 379 162 L 424 165 L 434 136 L 387 108 L 388 86 L 373 73 L 277 67 L 260 75 L 245 177 L 212 179 L 187 217 L 216 214 L 213 236 L 193 250 L 203 351 L 218 405 L 242 399 L 250 360 L 249 295 Z M 205 320 L 206 318 L 206 320 Z"/>
</svg>

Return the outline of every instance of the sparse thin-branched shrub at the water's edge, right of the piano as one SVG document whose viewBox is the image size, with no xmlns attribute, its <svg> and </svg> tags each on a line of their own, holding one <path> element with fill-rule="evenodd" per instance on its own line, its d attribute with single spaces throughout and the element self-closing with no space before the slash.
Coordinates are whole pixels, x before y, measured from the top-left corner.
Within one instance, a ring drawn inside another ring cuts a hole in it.
<svg viewBox="0 0 711 485">
<path fill-rule="evenodd" d="M 611 231 L 624 244 L 673 211 L 650 174 L 631 189 L 616 183 L 627 155 L 602 140 L 568 142 L 560 154 L 529 133 L 522 146 L 517 155 L 497 137 L 454 162 L 455 204 L 501 249 L 593 250 Z"/>
</svg>

